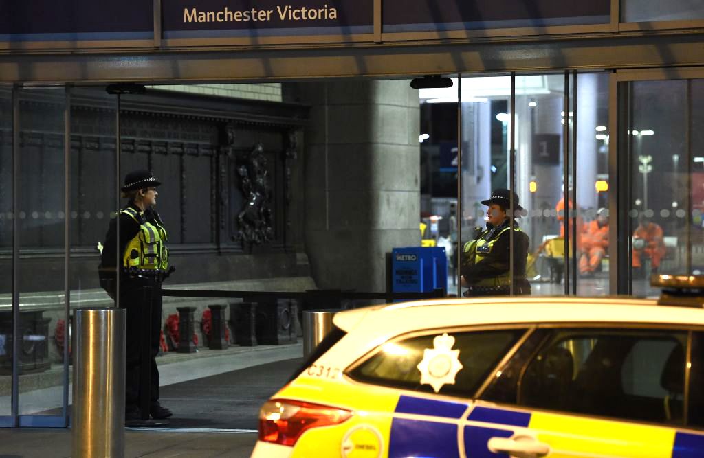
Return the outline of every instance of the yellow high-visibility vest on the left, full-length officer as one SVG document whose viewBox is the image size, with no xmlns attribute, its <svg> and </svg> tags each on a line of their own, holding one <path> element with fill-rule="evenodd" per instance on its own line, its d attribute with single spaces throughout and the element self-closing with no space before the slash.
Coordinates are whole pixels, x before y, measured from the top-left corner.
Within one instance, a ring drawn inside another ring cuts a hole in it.
<svg viewBox="0 0 704 458">
<path fill-rule="evenodd" d="M 140 213 L 133 208 L 122 210 L 125 215 L 139 223 Z M 166 229 L 158 222 L 142 222 L 139 232 L 127 243 L 122 255 L 122 267 L 137 269 L 166 270 L 168 268 L 168 248 L 165 246 Z"/>
</svg>

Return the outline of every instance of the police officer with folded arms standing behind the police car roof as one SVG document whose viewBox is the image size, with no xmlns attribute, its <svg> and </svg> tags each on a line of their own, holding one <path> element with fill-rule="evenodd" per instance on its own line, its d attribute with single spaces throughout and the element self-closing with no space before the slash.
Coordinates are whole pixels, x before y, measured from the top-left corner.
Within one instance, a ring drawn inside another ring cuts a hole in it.
<svg viewBox="0 0 704 458">
<path fill-rule="evenodd" d="M 496 189 L 488 205 L 486 230 L 475 240 L 465 243 L 460 274 L 468 290 L 465 295 L 508 295 L 513 281 L 514 294 L 530 294 L 526 279 L 526 261 L 530 239 L 513 222 L 513 279 L 510 276 L 510 191 Z M 518 196 L 513 193 L 513 208 L 521 211 Z"/>
</svg>

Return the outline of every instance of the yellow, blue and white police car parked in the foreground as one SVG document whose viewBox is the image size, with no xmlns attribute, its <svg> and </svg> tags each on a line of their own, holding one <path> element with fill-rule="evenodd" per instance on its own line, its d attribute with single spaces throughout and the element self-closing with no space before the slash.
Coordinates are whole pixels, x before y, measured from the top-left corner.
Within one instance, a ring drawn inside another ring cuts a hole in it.
<svg viewBox="0 0 704 458">
<path fill-rule="evenodd" d="M 704 282 L 660 280 L 660 302 L 693 307 L 521 297 L 339 312 L 261 408 L 252 457 L 704 457 L 704 290 L 675 295 Z"/>
</svg>

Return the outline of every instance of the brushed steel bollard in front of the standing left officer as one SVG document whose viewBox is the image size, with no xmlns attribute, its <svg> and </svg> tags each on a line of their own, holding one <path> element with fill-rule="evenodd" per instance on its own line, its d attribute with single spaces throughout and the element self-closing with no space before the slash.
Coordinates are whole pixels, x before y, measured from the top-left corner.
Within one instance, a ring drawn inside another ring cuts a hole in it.
<svg viewBox="0 0 704 458">
<path fill-rule="evenodd" d="M 73 457 L 125 456 L 126 312 L 73 312 Z"/>
</svg>

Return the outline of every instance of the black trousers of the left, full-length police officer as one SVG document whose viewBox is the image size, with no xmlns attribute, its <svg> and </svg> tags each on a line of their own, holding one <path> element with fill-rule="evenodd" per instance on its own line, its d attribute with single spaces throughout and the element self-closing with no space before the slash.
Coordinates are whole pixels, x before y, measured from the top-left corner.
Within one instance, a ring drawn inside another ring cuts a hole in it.
<svg viewBox="0 0 704 458">
<path fill-rule="evenodd" d="M 146 325 L 142 315 L 144 307 L 151 302 L 151 319 L 149 320 L 149 339 L 142 342 Z M 139 394 L 149 388 L 151 404 L 159 399 L 159 370 L 156 367 L 156 355 L 161 343 L 161 282 L 156 279 L 125 279 L 120 284 L 120 308 L 127 309 L 127 345 L 125 367 L 125 405 L 127 409 L 139 407 Z M 142 351 L 149 347 L 149 365 L 151 379 L 149 387 L 140 386 L 139 374 Z"/>
</svg>

